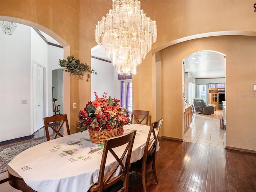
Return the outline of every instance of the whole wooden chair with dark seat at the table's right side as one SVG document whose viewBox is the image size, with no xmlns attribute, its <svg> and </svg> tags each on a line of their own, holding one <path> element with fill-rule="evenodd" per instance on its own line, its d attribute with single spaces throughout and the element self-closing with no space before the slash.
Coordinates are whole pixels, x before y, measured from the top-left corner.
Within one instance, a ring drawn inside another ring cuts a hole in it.
<svg viewBox="0 0 256 192">
<path fill-rule="evenodd" d="M 150 126 L 150 130 L 148 133 L 148 138 L 146 141 L 146 146 L 144 149 L 143 157 L 131 163 L 130 171 L 136 171 L 142 173 L 142 184 L 144 188 L 144 192 L 146 189 L 146 171 L 151 167 L 153 170 L 153 175 L 155 179 L 155 183 L 158 184 L 158 179 L 156 176 L 156 145 L 158 142 L 158 134 L 163 122 L 163 118 L 156 122 L 152 122 Z M 151 134 L 153 134 L 153 139 L 150 140 Z"/>
</svg>

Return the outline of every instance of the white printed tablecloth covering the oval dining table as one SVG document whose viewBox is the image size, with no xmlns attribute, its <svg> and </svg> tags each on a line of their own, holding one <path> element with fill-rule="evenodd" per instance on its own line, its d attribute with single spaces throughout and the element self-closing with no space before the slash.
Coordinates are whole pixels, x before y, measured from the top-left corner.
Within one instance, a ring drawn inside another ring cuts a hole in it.
<svg viewBox="0 0 256 192">
<path fill-rule="evenodd" d="M 124 126 L 124 133 L 137 130 L 131 163 L 143 156 L 149 128 L 140 124 Z M 88 131 L 78 132 L 29 148 L 8 165 L 38 192 L 86 192 L 98 181 L 103 148 L 104 144 L 90 142 Z M 106 169 L 115 162 L 114 158 L 108 159 Z"/>
</svg>

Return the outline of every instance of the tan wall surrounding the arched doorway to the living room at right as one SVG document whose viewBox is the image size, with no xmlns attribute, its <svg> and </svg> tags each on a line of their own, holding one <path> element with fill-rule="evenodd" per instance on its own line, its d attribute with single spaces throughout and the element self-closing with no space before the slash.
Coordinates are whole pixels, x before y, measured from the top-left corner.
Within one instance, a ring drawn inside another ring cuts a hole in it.
<svg viewBox="0 0 256 192">
<path fill-rule="evenodd" d="M 199 50 L 226 54 L 227 146 L 256 150 L 256 92 L 252 91 L 252 84 L 256 82 L 255 37 L 200 38 L 161 51 L 162 135 L 182 139 L 182 59 Z"/>
</svg>

